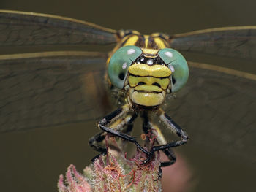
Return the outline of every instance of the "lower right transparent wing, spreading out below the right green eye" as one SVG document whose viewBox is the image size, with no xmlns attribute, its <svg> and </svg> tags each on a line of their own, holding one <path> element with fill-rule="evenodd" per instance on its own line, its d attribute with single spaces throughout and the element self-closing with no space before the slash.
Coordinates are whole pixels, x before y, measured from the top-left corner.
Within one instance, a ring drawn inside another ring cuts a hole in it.
<svg viewBox="0 0 256 192">
<path fill-rule="evenodd" d="M 256 159 L 256 75 L 189 63 L 189 81 L 167 100 L 167 113 L 189 134 L 189 146 Z"/>
</svg>

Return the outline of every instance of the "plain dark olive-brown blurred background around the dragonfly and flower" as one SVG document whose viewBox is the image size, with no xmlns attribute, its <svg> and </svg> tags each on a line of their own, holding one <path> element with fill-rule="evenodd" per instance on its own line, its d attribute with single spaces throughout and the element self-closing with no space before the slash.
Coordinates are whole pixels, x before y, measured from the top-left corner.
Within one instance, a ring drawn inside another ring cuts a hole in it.
<svg viewBox="0 0 256 192">
<path fill-rule="evenodd" d="M 0 1 L 0 9 L 67 16 L 116 30 L 135 29 L 143 34 L 177 34 L 222 26 L 252 26 L 256 25 L 255 7 L 254 0 Z M 7 54 L 42 50 L 108 51 L 110 48 L 4 47 L 0 51 L 1 54 Z M 256 72 L 252 61 L 192 53 L 185 53 L 184 56 L 191 61 Z M 64 174 L 69 164 L 74 164 L 82 172 L 90 164 L 91 158 L 97 155 L 88 145 L 89 138 L 98 132 L 96 122 L 97 118 L 86 123 L 0 134 L 1 191 L 57 191 L 59 174 Z M 180 176 L 186 177 L 184 185 L 188 187 L 184 187 L 184 191 L 252 191 L 255 188 L 256 160 L 241 161 L 239 158 L 222 157 L 218 153 L 208 153 L 207 148 L 189 147 L 189 143 L 176 152 L 184 162 L 181 167 L 186 169 Z M 164 191 L 168 190 L 174 191 L 174 188 L 164 188 Z"/>
</svg>

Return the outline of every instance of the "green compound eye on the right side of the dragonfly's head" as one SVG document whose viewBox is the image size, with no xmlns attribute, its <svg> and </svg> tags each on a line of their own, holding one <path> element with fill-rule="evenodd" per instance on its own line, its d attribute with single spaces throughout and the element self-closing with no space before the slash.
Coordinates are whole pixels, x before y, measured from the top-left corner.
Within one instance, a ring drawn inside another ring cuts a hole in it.
<svg viewBox="0 0 256 192">
<path fill-rule="evenodd" d="M 174 93 L 179 91 L 186 84 L 189 78 L 189 67 L 187 66 L 187 61 L 181 53 L 170 48 L 159 50 L 158 55 L 162 58 L 162 61 L 164 61 L 165 64 L 174 71 L 172 76 L 172 92 Z"/>
</svg>

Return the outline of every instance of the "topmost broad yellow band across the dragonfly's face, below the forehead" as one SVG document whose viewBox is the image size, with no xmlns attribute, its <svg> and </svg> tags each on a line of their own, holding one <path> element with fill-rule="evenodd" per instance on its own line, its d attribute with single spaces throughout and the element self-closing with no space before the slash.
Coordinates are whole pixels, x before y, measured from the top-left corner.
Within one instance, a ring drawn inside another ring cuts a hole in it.
<svg viewBox="0 0 256 192">
<path fill-rule="evenodd" d="M 172 73 L 167 66 L 148 64 L 133 64 L 129 66 L 128 72 L 141 77 L 169 77 Z"/>
</svg>

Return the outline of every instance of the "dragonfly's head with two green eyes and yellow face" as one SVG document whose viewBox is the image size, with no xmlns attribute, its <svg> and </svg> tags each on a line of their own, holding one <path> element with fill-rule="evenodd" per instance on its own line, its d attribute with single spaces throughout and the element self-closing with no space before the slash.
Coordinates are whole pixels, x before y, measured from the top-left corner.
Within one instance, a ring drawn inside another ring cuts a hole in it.
<svg viewBox="0 0 256 192">
<path fill-rule="evenodd" d="M 146 107 L 159 106 L 167 93 L 174 93 L 187 82 L 189 70 L 176 50 L 121 47 L 108 64 L 108 77 L 116 88 L 128 93 L 129 101 Z"/>
</svg>

